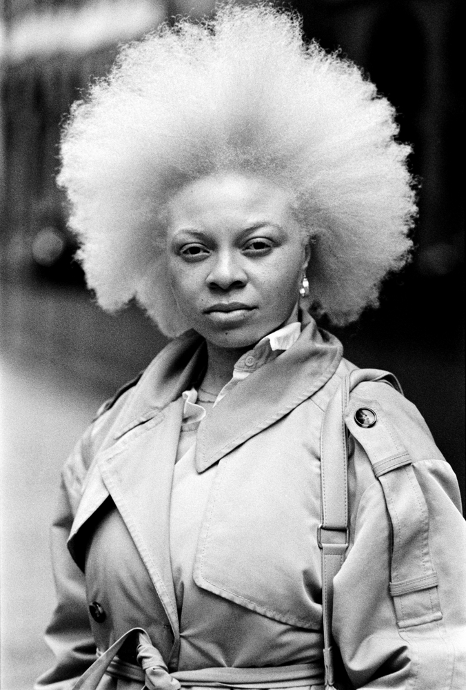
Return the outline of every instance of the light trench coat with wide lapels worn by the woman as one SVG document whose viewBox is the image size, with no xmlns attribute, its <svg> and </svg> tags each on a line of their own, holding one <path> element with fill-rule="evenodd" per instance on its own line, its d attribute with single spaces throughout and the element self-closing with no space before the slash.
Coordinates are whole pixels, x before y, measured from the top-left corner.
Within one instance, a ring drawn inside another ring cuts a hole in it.
<svg viewBox="0 0 466 690">
<path fill-rule="evenodd" d="M 180 396 L 203 357 L 203 339 L 194 332 L 168 344 L 136 384 L 103 407 L 65 463 L 52 526 L 58 602 L 46 633 L 57 661 L 37 689 L 70 690 L 96 649 L 104 653 L 132 629 L 145 631 L 166 671 L 176 676 L 183 663 L 190 670 L 182 660 L 170 569 L 169 509 Z M 302 661 L 314 676 L 301 681 L 306 687 L 323 682 L 316 539 L 321 423 L 330 397 L 354 368 L 338 340 L 308 318 L 297 342 L 230 391 L 197 435 L 197 471 L 218 466 L 196 550 L 196 585 L 240 612 L 254 611 L 307 635 L 309 654 Z M 383 439 L 367 444 L 354 424 L 354 408 L 368 402 L 394 449 L 378 447 Z M 345 413 L 349 544 L 334 580 L 332 620 L 344 683 L 463 690 L 465 522 L 456 477 L 421 414 L 393 388 L 360 384 L 351 406 Z M 409 466 L 385 467 L 382 477 L 374 466 L 387 453 L 406 455 Z M 90 615 L 90 605 L 100 607 L 100 620 Z M 223 669 L 228 672 L 244 665 L 234 655 L 225 662 L 220 643 L 203 634 L 196 644 L 210 649 L 210 666 L 231 667 Z M 105 674 L 99 689 L 141 689 L 130 640 L 119 652 L 123 671 Z M 286 663 L 277 653 L 270 666 Z M 201 651 L 189 664 L 199 679 Z M 235 678 L 224 684 L 243 687 L 248 680 L 236 684 Z M 168 680 L 167 687 L 177 687 Z M 283 685 L 290 684 L 300 683 Z"/>
</svg>

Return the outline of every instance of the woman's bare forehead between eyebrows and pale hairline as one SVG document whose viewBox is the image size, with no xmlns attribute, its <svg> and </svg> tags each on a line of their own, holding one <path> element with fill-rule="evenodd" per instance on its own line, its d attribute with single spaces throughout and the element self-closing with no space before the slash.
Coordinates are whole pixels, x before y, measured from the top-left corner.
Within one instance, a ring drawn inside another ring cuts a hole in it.
<svg viewBox="0 0 466 690">
<path fill-rule="evenodd" d="M 170 200 L 172 229 L 219 224 L 283 224 L 290 214 L 290 193 L 271 181 L 243 175 L 212 175 L 179 190 Z"/>
</svg>

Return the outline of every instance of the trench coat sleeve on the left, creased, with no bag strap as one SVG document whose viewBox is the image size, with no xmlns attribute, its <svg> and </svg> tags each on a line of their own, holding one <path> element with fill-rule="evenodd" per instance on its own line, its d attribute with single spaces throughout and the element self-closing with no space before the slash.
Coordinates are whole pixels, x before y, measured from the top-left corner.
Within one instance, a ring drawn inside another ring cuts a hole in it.
<svg viewBox="0 0 466 690">
<path fill-rule="evenodd" d="M 70 690 L 95 660 L 96 646 L 88 620 L 84 575 L 66 546 L 86 473 L 85 450 L 89 435 L 87 432 L 77 444 L 61 477 L 51 534 L 57 606 L 45 632 L 55 664 L 37 680 L 34 690 Z"/>
</svg>

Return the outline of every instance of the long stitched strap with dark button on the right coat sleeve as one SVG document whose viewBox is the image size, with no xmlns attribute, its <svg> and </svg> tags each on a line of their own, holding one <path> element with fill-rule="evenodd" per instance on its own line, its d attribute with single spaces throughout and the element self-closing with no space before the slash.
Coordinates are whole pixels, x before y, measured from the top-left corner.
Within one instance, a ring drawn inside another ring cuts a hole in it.
<svg viewBox="0 0 466 690">
<path fill-rule="evenodd" d="M 429 510 L 413 457 L 389 411 L 375 396 L 364 400 L 356 393 L 344 419 L 381 484 L 392 524 L 389 593 L 398 628 L 440 620 L 438 578 L 429 548 Z"/>
</svg>

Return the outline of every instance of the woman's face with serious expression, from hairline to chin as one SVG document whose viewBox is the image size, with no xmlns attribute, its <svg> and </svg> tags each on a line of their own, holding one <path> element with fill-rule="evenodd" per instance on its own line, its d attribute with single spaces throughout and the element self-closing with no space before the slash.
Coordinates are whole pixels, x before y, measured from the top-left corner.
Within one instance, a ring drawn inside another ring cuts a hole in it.
<svg viewBox="0 0 466 690">
<path fill-rule="evenodd" d="M 170 284 L 192 328 L 216 346 L 243 348 L 283 324 L 309 259 L 289 193 L 212 175 L 176 193 L 169 213 Z"/>
</svg>

